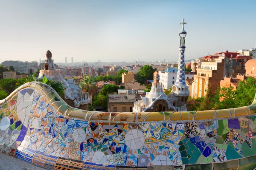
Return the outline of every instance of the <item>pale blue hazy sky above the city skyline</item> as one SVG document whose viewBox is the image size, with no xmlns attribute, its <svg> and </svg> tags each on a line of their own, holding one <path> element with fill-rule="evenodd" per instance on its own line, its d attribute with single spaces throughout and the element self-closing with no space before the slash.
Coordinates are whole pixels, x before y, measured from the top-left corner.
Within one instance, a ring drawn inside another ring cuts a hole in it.
<svg viewBox="0 0 256 170">
<path fill-rule="evenodd" d="M 0 0 L 0 59 L 177 61 L 256 48 L 255 0 Z"/>
</svg>

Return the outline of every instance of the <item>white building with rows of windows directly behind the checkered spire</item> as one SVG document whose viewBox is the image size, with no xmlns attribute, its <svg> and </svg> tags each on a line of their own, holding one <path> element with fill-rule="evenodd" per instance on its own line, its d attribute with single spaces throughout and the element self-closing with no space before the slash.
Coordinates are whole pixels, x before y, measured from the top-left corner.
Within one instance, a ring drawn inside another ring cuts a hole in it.
<svg viewBox="0 0 256 170">
<path fill-rule="evenodd" d="M 159 82 L 162 84 L 163 89 L 169 89 L 175 85 L 177 79 L 177 68 L 166 68 L 165 71 L 158 71 L 160 76 Z M 185 72 L 186 79 L 194 79 L 196 72 Z"/>
</svg>

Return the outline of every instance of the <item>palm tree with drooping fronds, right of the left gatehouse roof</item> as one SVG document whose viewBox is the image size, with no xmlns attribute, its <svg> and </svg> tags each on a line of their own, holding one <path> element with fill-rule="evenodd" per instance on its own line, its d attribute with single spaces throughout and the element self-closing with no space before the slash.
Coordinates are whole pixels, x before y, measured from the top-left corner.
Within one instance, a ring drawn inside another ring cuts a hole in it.
<svg viewBox="0 0 256 170">
<path fill-rule="evenodd" d="M 90 96 L 95 94 L 96 84 L 92 77 L 87 77 L 81 80 L 79 87 L 85 93 L 89 93 Z"/>
</svg>

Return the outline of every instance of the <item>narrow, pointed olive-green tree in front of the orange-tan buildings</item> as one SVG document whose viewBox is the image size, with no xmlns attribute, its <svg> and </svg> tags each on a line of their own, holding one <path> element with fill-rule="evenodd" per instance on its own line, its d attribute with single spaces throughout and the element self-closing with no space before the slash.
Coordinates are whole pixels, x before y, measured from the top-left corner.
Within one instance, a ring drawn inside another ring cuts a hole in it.
<svg viewBox="0 0 256 170">
<path fill-rule="evenodd" d="M 212 86 L 208 83 L 207 94 L 204 96 L 203 101 L 201 102 L 202 111 L 211 110 L 213 108 L 213 98 L 214 94 L 212 94 Z"/>
</svg>

